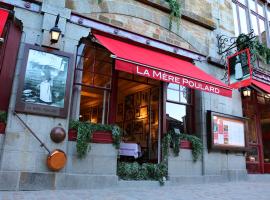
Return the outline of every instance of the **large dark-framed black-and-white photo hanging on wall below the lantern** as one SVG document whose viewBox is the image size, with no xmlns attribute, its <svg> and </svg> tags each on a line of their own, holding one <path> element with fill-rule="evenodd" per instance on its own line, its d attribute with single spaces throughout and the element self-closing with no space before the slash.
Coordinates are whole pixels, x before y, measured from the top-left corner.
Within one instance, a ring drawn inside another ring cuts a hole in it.
<svg viewBox="0 0 270 200">
<path fill-rule="evenodd" d="M 65 118 L 72 65 L 72 54 L 27 44 L 15 110 Z"/>
</svg>

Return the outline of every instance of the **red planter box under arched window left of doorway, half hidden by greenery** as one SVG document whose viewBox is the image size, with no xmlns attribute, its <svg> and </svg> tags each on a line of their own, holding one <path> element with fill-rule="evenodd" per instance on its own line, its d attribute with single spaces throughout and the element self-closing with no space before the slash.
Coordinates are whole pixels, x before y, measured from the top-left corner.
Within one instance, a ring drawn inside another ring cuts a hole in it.
<svg viewBox="0 0 270 200">
<path fill-rule="evenodd" d="M 68 131 L 68 141 L 77 140 L 77 130 L 70 129 Z M 111 131 L 96 131 L 92 135 L 92 143 L 112 144 L 112 132 Z"/>
</svg>

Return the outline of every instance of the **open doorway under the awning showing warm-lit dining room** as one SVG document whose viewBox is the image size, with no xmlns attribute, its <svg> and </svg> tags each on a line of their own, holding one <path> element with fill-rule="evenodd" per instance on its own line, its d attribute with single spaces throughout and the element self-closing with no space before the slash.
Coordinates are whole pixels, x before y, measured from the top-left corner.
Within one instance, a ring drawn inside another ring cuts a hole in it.
<svg viewBox="0 0 270 200">
<path fill-rule="evenodd" d="M 120 160 L 158 162 L 160 85 L 159 81 L 119 72 L 116 123 L 124 131 Z"/>
</svg>

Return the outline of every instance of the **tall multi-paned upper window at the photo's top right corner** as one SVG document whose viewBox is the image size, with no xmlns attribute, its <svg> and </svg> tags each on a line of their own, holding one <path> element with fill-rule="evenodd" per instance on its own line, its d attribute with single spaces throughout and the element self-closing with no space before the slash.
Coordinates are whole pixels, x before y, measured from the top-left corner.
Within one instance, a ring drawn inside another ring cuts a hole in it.
<svg viewBox="0 0 270 200">
<path fill-rule="evenodd" d="M 251 29 L 259 40 L 265 44 L 270 44 L 269 24 L 267 23 L 270 16 L 270 9 L 259 0 L 233 0 L 233 15 L 235 35 L 239 33 L 248 33 Z"/>
</svg>

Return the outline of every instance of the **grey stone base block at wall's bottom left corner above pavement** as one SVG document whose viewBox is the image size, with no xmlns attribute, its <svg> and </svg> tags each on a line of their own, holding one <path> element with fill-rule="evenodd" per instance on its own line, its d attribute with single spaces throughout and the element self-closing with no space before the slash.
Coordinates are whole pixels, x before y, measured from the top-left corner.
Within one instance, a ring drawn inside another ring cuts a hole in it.
<svg viewBox="0 0 270 200">
<path fill-rule="evenodd" d="M 19 178 L 20 178 L 19 172 L 0 171 L 0 191 L 17 190 Z"/>
</svg>

